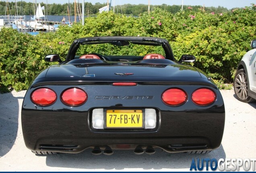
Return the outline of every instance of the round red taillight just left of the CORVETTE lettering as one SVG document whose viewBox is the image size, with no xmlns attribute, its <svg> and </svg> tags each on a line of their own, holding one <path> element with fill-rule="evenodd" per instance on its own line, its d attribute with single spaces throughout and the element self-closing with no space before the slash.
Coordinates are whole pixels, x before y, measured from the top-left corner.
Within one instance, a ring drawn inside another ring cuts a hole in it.
<svg viewBox="0 0 256 173">
<path fill-rule="evenodd" d="M 71 88 L 64 91 L 61 101 L 68 106 L 80 106 L 87 101 L 87 93 L 78 88 Z"/>
</svg>

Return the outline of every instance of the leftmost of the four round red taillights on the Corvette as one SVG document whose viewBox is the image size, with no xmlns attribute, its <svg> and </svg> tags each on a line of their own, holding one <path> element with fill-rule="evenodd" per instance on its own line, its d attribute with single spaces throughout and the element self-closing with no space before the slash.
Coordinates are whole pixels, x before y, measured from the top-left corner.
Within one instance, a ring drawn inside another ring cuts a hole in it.
<svg viewBox="0 0 256 173">
<path fill-rule="evenodd" d="M 47 88 L 40 88 L 31 94 L 31 101 L 38 106 L 50 106 L 57 99 L 57 95 L 54 91 Z"/>
</svg>

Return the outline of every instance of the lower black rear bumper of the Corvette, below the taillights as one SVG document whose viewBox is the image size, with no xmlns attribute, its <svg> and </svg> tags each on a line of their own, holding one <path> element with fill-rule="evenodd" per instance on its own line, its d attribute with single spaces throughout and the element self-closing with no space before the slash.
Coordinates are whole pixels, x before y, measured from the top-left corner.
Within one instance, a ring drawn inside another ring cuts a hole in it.
<svg viewBox="0 0 256 173">
<path fill-rule="evenodd" d="M 151 145 L 167 152 L 213 150 L 221 145 L 224 105 L 193 111 L 161 111 L 153 130 L 95 130 L 91 111 L 22 109 L 23 137 L 33 151 L 79 153 L 89 147 Z"/>
</svg>

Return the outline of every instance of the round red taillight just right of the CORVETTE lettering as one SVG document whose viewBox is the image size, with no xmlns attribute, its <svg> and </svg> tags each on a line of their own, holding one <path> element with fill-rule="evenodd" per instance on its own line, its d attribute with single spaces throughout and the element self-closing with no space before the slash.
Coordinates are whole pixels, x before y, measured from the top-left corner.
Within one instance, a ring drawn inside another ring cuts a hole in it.
<svg viewBox="0 0 256 173">
<path fill-rule="evenodd" d="M 168 89 L 162 94 L 162 100 L 170 106 L 179 106 L 187 101 L 187 94 L 182 89 Z"/>
</svg>

